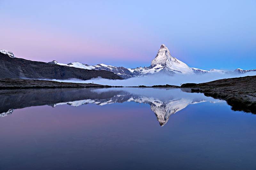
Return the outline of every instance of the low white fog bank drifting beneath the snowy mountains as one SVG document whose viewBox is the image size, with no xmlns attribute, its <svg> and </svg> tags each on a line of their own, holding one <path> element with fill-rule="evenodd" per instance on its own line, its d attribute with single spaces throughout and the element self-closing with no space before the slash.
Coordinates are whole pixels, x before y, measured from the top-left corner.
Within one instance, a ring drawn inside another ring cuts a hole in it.
<svg viewBox="0 0 256 170">
<path fill-rule="evenodd" d="M 110 85 L 110 86 L 153 86 L 153 85 L 177 85 L 183 83 L 202 83 L 208 82 L 218 79 L 224 78 L 233 78 L 233 77 L 244 77 L 248 75 L 256 75 L 256 72 L 251 72 L 247 74 L 221 74 L 221 73 L 207 73 L 207 74 L 200 74 L 200 75 L 166 75 L 166 74 L 153 74 L 148 76 L 142 77 L 133 77 L 125 80 L 109 80 L 103 79 L 101 77 L 93 78 L 90 80 L 79 80 L 79 79 L 70 79 L 70 80 L 56 80 L 53 79 L 52 81 L 62 81 L 62 82 L 74 82 L 74 83 L 95 83 L 95 84 L 102 84 L 102 85 Z"/>
</svg>

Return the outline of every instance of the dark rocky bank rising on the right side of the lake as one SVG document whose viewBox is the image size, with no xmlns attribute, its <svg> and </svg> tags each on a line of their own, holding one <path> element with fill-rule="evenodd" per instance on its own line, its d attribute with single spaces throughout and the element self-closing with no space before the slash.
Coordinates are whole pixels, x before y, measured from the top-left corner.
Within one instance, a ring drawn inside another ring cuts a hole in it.
<svg viewBox="0 0 256 170">
<path fill-rule="evenodd" d="M 206 83 L 185 83 L 181 88 L 191 92 L 204 93 L 217 99 L 226 100 L 232 110 L 256 114 L 256 76 L 246 76 L 210 81 Z"/>
</svg>

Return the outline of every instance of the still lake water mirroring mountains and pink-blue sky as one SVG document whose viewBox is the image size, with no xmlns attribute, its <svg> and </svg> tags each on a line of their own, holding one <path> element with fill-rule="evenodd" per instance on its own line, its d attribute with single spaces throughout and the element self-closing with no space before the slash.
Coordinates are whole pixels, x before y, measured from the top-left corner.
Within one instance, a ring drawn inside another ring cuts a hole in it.
<svg viewBox="0 0 256 170">
<path fill-rule="evenodd" d="M 256 117 L 180 89 L 0 91 L 0 169 L 255 169 Z"/>
</svg>

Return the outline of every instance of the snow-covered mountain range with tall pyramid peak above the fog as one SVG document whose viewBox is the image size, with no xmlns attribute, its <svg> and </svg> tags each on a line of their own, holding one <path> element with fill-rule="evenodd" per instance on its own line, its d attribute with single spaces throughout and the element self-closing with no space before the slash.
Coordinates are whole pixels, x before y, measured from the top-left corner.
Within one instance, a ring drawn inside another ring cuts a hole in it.
<svg viewBox="0 0 256 170">
<path fill-rule="evenodd" d="M 174 75 L 174 74 L 193 75 L 193 74 L 205 74 L 205 73 L 244 74 L 244 73 L 256 71 L 256 69 L 243 70 L 240 68 L 237 68 L 234 71 L 225 71 L 225 70 L 217 70 L 217 69 L 211 69 L 208 71 L 208 70 L 203 70 L 199 68 L 188 67 L 187 64 L 173 57 L 169 49 L 164 44 L 160 46 L 160 49 L 158 50 L 156 57 L 151 61 L 151 65 L 149 67 L 125 68 L 125 67 L 110 66 L 106 64 L 97 64 L 95 66 L 91 66 L 91 65 L 82 64 L 79 62 L 63 64 L 63 63 L 58 63 L 55 60 L 49 63 L 62 65 L 62 66 L 83 68 L 88 70 L 111 71 L 121 76 L 124 79 L 131 78 L 131 77 L 139 77 L 142 75 L 157 74 L 157 73 L 164 73 L 168 75 Z"/>
</svg>

